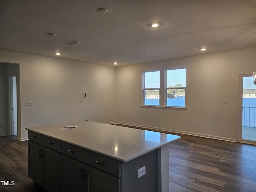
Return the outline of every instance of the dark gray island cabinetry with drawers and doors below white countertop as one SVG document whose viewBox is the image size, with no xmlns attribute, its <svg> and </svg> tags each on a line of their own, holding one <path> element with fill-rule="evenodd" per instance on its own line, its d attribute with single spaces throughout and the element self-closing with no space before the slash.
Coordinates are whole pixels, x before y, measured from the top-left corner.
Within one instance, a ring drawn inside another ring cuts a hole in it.
<svg viewBox="0 0 256 192">
<path fill-rule="evenodd" d="M 29 177 L 48 192 L 157 192 L 157 150 L 128 162 L 28 132 Z M 137 170 L 146 166 L 146 174 Z"/>
</svg>

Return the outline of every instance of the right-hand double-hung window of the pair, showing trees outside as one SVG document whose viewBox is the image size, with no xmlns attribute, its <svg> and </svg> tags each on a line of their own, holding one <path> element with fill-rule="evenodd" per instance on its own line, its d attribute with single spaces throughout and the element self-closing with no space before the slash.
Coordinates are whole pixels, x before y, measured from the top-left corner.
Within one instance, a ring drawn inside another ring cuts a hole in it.
<svg viewBox="0 0 256 192">
<path fill-rule="evenodd" d="M 185 107 L 186 69 L 166 70 L 166 106 Z"/>
</svg>

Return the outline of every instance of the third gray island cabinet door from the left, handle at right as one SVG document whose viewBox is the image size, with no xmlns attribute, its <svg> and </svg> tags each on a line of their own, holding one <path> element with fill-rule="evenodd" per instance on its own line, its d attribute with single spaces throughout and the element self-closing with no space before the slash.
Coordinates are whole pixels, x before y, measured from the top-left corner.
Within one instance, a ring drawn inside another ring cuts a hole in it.
<svg viewBox="0 0 256 192">
<path fill-rule="evenodd" d="M 84 163 L 60 154 L 60 186 L 62 192 L 84 192 Z"/>
</svg>

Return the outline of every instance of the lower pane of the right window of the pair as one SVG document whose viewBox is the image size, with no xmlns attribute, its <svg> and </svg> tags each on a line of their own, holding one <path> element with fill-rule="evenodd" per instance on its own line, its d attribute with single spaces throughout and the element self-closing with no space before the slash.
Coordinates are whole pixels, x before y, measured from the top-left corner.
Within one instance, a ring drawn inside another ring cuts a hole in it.
<svg viewBox="0 0 256 192">
<path fill-rule="evenodd" d="M 185 89 L 168 89 L 167 106 L 185 107 Z"/>
</svg>

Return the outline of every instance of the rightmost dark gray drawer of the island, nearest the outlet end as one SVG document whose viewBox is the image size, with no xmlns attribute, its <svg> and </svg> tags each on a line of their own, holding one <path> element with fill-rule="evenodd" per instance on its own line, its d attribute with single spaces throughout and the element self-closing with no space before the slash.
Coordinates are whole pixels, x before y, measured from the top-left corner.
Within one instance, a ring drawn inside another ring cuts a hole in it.
<svg viewBox="0 0 256 192">
<path fill-rule="evenodd" d="M 85 150 L 85 163 L 118 178 L 121 177 L 121 163 L 118 160 Z"/>
</svg>

